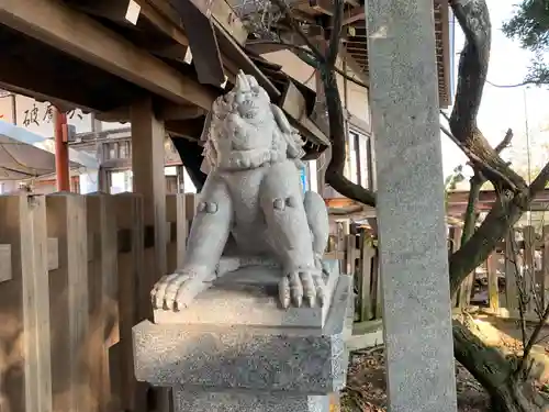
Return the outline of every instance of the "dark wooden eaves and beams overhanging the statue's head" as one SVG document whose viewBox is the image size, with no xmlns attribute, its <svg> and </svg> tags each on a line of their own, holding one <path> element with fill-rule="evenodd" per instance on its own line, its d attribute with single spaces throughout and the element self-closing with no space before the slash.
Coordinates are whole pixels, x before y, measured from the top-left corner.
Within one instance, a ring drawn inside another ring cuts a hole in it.
<svg viewBox="0 0 549 412">
<path fill-rule="evenodd" d="M 111 121 L 127 121 L 131 103 L 153 94 L 166 130 L 197 138 L 205 111 L 243 69 L 287 111 L 310 151 L 322 152 L 327 137 L 309 119 L 314 97 L 304 96 L 280 67 L 245 52 L 247 33 L 223 0 L 213 2 L 212 10 L 198 1 L 2 0 L 0 87 Z M 135 5 L 137 19 L 128 16 Z M 206 12 L 206 19 L 184 26 L 179 13 L 192 8 Z M 191 32 L 194 42 L 215 44 L 214 53 L 192 43 Z M 205 76 L 198 69 L 204 65 L 214 67 Z"/>
</svg>

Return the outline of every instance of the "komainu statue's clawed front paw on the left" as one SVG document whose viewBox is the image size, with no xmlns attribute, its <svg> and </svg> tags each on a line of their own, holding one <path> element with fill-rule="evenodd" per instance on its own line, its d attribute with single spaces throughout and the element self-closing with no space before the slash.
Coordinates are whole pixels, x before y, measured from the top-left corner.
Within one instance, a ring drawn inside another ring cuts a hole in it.
<svg viewBox="0 0 549 412">
<path fill-rule="evenodd" d="M 192 300 L 210 287 L 202 276 L 194 271 L 180 271 L 164 276 L 150 291 L 153 308 L 167 310 L 182 310 Z"/>
</svg>

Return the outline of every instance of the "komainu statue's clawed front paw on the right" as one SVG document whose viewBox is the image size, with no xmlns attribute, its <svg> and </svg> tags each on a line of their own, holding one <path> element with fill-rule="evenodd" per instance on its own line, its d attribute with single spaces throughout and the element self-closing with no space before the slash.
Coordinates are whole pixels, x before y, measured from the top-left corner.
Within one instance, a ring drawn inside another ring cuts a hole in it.
<svg viewBox="0 0 549 412">
<path fill-rule="evenodd" d="M 282 308 L 294 305 L 300 308 L 305 301 L 311 308 L 325 303 L 326 286 L 322 278 L 322 270 L 303 268 L 291 270 L 279 285 L 280 303 Z"/>
</svg>

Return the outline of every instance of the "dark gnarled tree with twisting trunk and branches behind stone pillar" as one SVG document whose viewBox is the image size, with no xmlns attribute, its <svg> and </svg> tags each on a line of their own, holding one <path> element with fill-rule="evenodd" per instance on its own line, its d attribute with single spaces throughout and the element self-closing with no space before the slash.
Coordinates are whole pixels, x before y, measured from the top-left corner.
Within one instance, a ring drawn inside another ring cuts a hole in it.
<svg viewBox="0 0 549 412">
<path fill-rule="evenodd" d="M 363 187 L 344 177 L 345 123 L 344 111 L 337 88 L 335 67 L 341 36 L 344 4 L 335 0 L 332 18 L 332 33 L 326 53 L 322 53 L 306 37 L 293 20 L 290 7 L 283 0 L 272 0 L 301 37 L 306 47 L 299 47 L 296 55 L 314 66 L 321 74 L 329 121 L 332 159 L 326 170 L 326 182 L 339 193 L 365 204 L 376 205 L 376 196 Z M 491 22 L 484 0 L 450 0 L 453 13 L 466 35 L 461 52 L 456 102 L 448 118 L 448 135 L 469 158 L 474 170 L 470 204 L 466 216 L 467 230 L 463 243 L 450 257 L 449 278 L 452 296 L 459 290 L 466 277 L 481 265 L 495 249 L 520 215 L 527 211 L 537 193 L 549 181 L 549 164 L 542 168 L 530 186 L 500 157 L 500 152 L 512 137 L 507 133 L 498 147 L 493 148 L 477 124 L 482 92 L 490 59 Z M 292 46 L 295 51 L 295 47 Z M 474 205 L 480 187 L 490 180 L 500 193 L 479 227 L 474 225 Z M 547 407 L 534 389 L 534 385 L 517 366 L 512 365 L 497 349 L 486 346 L 461 322 L 453 323 L 455 355 L 485 388 L 492 399 L 493 410 L 502 412 L 535 412 Z M 520 365 L 522 363 L 519 363 Z"/>
</svg>

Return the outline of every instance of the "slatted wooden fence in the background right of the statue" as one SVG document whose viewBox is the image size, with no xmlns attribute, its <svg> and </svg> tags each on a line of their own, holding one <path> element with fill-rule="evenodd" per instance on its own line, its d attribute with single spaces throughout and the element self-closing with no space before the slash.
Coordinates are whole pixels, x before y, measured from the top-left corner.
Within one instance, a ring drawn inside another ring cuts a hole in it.
<svg viewBox="0 0 549 412">
<path fill-rule="evenodd" d="M 450 227 L 448 252 L 460 246 L 461 229 Z M 330 235 L 327 258 L 340 261 L 341 272 L 355 278 L 357 322 L 382 316 L 378 248 L 371 237 L 360 232 L 349 234 L 339 226 Z M 452 307 L 480 308 L 502 318 L 518 319 L 519 299 L 526 319 L 537 321 L 549 304 L 549 225 L 515 229 L 514 241 L 506 238 L 460 287 Z"/>
</svg>

